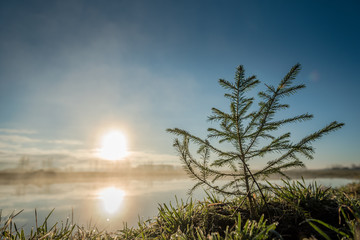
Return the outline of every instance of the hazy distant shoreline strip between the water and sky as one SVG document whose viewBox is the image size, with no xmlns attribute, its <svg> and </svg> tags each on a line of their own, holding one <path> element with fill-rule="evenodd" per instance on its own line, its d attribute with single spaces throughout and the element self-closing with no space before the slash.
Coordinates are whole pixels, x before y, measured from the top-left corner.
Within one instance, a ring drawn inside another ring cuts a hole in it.
<svg viewBox="0 0 360 240">
<path fill-rule="evenodd" d="M 360 169 L 300 169 L 286 171 L 291 179 L 344 178 L 360 180 Z M 134 180 L 172 180 L 187 179 L 188 175 L 181 168 L 174 169 L 124 169 L 103 172 L 62 172 L 37 170 L 28 172 L 0 171 L 0 185 L 4 184 L 52 184 L 68 182 L 96 182 L 121 179 Z M 280 175 L 268 179 L 281 179 Z"/>
</svg>

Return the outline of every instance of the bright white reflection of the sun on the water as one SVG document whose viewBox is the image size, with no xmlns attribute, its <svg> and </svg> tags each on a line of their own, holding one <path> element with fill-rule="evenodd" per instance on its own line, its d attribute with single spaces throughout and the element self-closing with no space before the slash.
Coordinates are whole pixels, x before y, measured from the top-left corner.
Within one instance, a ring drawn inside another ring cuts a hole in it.
<svg viewBox="0 0 360 240">
<path fill-rule="evenodd" d="M 108 187 L 99 192 L 104 210 L 109 214 L 116 213 L 124 200 L 125 192 L 119 188 Z"/>
</svg>

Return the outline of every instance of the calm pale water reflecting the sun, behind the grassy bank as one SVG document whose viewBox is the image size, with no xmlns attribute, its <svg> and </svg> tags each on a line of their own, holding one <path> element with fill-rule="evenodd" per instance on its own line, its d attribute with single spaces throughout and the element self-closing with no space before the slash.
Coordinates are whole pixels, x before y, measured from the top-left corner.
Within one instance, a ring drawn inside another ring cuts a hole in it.
<svg viewBox="0 0 360 240">
<path fill-rule="evenodd" d="M 333 178 L 316 181 L 336 187 L 354 180 Z M 186 200 L 186 192 L 191 186 L 192 181 L 188 179 L 0 185 L 0 209 L 3 219 L 14 210 L 23 209 L 15 222 L 25 230 L 35 225 L 35 209 L 38 221 L 42 223 L 55 208 L 49 219 L 50 224 L 66 221 L 73 216 L 75 223 L 85 227 L 95 225 L 101 230 L 115 231 L 121 229 L 124 222 L 128 226 L 137 226 L 139 218 L 147 220 L 156 216 L 158 205 L 170 201 L 174 203 L 175 195 L 178 199 Z M 204 197 L 202 191 L 193 196 L 196 199 Z"/>
</svg>

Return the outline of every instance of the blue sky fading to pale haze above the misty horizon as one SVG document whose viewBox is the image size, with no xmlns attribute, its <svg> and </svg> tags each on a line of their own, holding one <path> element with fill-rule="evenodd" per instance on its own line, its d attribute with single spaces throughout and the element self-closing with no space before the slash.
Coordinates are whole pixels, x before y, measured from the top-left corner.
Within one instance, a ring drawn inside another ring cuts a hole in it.
<svg viewBox="0 0 360 240">
<path fill-rule="evenodd" d="M 218 79 L 277 85 L 300 63 L 286 99 L 294 138 L 336 120 L 309 168 L 360 164 L 358 1 L 0 1 L 0 169 L 54 159 L 90 164 L 111 129 L 128 160 L 179 160 L 167 128 L 206 137 L 211 108 L 227 110 Z M 262 90 L 262 89 L 261 89 Z"/>
</svg>

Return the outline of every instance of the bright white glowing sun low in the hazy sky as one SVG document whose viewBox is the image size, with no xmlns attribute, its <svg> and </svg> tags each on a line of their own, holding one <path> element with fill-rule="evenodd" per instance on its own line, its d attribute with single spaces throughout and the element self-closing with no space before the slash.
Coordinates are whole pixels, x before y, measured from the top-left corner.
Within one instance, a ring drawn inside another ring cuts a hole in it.
<svg viewBox="0 0 360 240">
<path fill-rule="evenodd" d="M 99 157 L 106 160 L 120 160 L 127 155 L 126 138 L 120 131 L 110 131 L 101 139 Z"/>
</svg>

